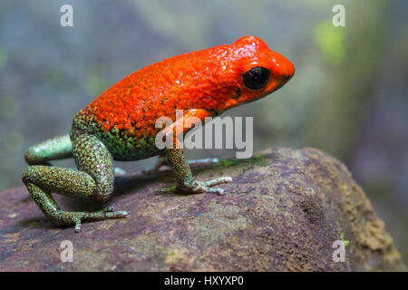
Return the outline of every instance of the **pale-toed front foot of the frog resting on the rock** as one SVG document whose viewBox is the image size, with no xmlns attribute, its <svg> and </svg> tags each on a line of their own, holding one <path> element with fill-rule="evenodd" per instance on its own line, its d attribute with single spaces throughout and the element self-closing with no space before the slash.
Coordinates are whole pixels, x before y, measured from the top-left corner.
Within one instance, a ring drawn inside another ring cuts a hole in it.
<svg viewBox="0 0 408 290">
<path fill-rule="evenodd" d="M 223 196 L 224 189 L 219 188 L 211 188 L 212 186 L 221 184 L 221 183 L 228 183 L 231 182 L 232 178 L 230 177 L 223 177 L 218 179 L 211 179 L 209 181 L 197 181 L 193 180 L 187 184 L 183 185 L 175 185 L 168 189 L 160 189 L 159 192 L 174 192 L 180 190 L 182 192 L 190 193 L 190 194 L 197 194 L 197 193 L 217 193 L 219 196 Z"/>
</svg>

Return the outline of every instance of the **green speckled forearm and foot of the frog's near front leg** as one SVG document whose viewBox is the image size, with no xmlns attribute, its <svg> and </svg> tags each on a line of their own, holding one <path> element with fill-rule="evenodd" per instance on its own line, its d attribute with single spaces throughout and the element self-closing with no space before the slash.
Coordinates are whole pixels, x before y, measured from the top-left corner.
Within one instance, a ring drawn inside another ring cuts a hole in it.
<svg viewBox="0 0 408 290">
<path fill-rule="evenodd" d="M 189 163 L 184 156 L 182 150 L 178 149 L 167 149 L 166 150 L 167 159 L 169 161 L 170 167 L 173 170 L 174 177 L 177 181 L 177 186 L 164 189 L 161 191 L 173 191 L 175 189 L 180 189 L 181 191 L 187 193 L 217 193 L 219 195 L 224 194 L 224 189 L 211 188 L 214 185 L 220 183 L 231 182 L 230 177 L 223 177 L 218 179 L 212 179 L 209 181 L 197 181 L 194 180 L 191 174 L 191 169 L 189 168 Z"/>
</svg>

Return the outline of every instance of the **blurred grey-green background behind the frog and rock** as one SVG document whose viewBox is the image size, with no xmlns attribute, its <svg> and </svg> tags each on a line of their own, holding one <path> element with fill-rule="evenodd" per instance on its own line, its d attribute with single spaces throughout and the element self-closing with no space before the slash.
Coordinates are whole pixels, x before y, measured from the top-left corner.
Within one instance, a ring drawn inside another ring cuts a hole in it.
<svg viewBox="0 0 408 290">
<path fill-rule="evenodd" d="M 60 25 L 64 4 L 73 5 L 73 27 Z M 336 4 L 345 5 L 345 27 L 332 24 Z M 407 262 L 407 8 L 406 0 L 2 0 L 0 191 L 22 186 L 27 147 L 67 133 L 73 114 L 125 75 L 252 34 L 295 63 L 296 75 L 226 115 L 255 117 L 255 150 L 311 146 L 343 160 Z"/>
</svg>

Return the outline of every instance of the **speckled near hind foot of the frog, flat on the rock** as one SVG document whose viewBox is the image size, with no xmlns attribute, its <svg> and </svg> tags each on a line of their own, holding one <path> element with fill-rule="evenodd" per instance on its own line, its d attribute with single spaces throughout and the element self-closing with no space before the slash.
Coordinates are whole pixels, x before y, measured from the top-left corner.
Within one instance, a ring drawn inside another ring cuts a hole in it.
<svg viewBox="0 0 408 290">
<path fill-rule="evenodd" d="M 130 213 L 124 210 L 116 210 L 113 206 L 102 208 L 101 210 L 86 212 L 60 211 L 53 217 L 53 223 L 58 226 L 75 225 L 75 232 L 81 231 L 83 221 L 95 221 L 109 218 L 124 218 Z"/>
</svg>

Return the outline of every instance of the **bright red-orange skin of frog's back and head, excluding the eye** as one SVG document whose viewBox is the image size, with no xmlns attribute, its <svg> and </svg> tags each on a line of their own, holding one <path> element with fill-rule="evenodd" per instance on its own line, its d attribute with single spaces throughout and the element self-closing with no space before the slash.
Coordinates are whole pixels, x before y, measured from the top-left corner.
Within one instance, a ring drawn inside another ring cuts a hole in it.
<svg viewBox="0 0 408 290">
<path fill-rule="evenodd" d="M 85 121 L 98 122 L 104 131 L 114 127 L 136 137 L 142 128 L 144 136 L 154 136 L 158 131 L 155 121 L 160 116 L 174 120 L 176 109 L 224 111 L 248 101 L 245 98 L 276 90 L 280 81 L 262 92 L 242 88 L 241 99 L 234 100 L 238 87 L 242 87 L 242 73 L 257 63 L 273 63 L 272 59 L 277 63 L 274 75 L 293 75 L 292 63 L 254 36 L 180 54 L 131 73 L 80 113 Z"/>
</svg>

